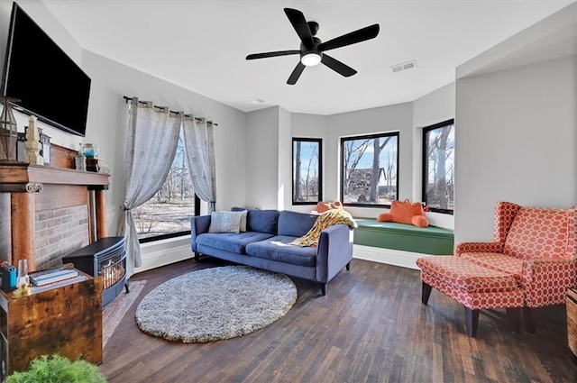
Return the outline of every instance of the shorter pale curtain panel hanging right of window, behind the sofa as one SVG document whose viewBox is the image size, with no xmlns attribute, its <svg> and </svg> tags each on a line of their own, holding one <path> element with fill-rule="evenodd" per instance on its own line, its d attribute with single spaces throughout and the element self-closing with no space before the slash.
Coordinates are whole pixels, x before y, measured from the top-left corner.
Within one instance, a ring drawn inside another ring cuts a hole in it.
<svg viewBox="0 0 577 383">
<path fill-rule="evenodd" d="M 216 205 L 214 127 L 204 118 L 197 121 L 188 115 L 183 118 L 182 126 L 192 186 L 197 196 L 208 202 L 210 214 L 215 211 Z"/>
</svg>

